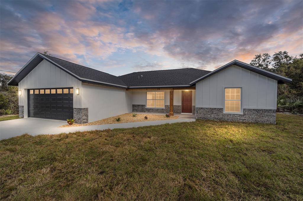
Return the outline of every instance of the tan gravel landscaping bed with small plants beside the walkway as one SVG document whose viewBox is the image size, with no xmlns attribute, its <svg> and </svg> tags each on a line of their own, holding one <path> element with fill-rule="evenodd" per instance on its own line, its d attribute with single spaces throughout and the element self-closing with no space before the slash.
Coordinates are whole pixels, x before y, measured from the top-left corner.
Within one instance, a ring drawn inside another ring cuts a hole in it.
<svg viewBox="0 0 303 201">
<path fill-rule="evenodd" d="M 148 119 L 144 119 L 147 116 Z M 116 118 L 120 117 L 120 121 L 116 121 Z M 78 124 L 74 123 L 72 125 L 63 125 L 59 127 L 72 127 L 72 126 L 91 126 L 91 125 L 101 125 L 101 124 L 112 124 L 112 123 L 130 123 L 130 122 L 140 122 L 140 121 L 157 121 L 157 120 L 170 120 L 178 119 L 179 116 L 166 117 L 165 115 L 156 115 L 156 114 L 137 114 L 137 116 L 132 116 L 132 113 L 125 113 L 118 116 L 112 116 L 106 119 Z"/>
</svg>

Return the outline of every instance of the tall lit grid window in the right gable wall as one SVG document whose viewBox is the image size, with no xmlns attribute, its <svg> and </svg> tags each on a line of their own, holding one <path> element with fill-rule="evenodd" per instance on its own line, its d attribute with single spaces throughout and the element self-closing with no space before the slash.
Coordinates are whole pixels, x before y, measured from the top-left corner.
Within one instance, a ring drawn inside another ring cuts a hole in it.
<svg viewBox="0 0 303 201">
<path fill-rule="evenodd" d="M 241 88 L 225 88 L 225 112 L 240 112 Z"/>
</svg>

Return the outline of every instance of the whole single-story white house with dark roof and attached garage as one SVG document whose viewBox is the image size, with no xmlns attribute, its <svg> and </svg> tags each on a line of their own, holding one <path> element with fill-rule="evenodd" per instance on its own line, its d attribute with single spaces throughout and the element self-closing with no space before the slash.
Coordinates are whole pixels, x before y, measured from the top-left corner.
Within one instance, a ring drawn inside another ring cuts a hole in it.
<svg viewBox="0 0 303 201">
<path fill-rule="evenodd" d="M 291 79 L 234 60 L 214 71 L 185 68 L 114 76 L 37 53 L 9 81 L 19 116 L 87 123 L 129 112 L 276 122 L 277 85 Z"/>
</svg>

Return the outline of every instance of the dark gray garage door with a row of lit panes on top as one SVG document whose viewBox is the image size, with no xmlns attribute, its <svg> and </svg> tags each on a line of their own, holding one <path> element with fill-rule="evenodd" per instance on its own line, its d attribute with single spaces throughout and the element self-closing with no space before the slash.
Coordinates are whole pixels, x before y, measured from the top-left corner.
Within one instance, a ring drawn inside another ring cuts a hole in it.
<svg viewBox="0 0 303 201">
<path fill-rule="evenodd" d="M 73 118 L 73 89 L 29 89 L 28 117 L 56 120 Z"/>
</svg>

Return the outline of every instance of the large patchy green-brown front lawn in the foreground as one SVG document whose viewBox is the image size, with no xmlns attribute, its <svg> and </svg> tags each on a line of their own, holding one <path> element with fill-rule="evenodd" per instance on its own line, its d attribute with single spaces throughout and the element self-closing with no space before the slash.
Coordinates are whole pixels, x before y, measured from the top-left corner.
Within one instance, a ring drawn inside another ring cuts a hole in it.
<svg viewBox="0 0 303 201">
<path fill-rule="evenodd" d="M 303 200 L 303 117 L 0 141 L 0 200 Z"/>
</svg>

